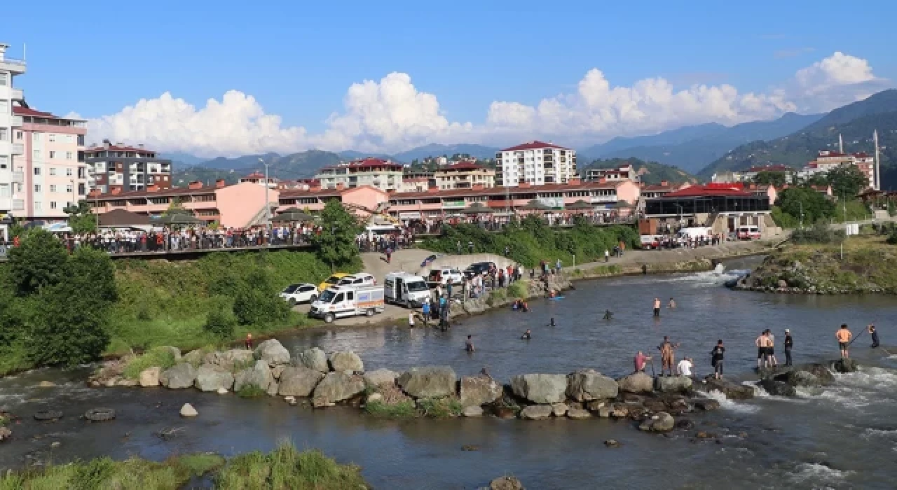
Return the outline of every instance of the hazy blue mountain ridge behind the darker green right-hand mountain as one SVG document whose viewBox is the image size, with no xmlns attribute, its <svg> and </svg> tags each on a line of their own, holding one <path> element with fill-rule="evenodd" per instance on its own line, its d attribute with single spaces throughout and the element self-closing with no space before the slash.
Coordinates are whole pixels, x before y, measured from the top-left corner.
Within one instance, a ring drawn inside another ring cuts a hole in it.
<svg viewBox="0 0 897 490">
<path fill-rule="evenodd" d="M 602 145 L 579 151 L 578 157 L 579 159 L 636 157 L 675 165 L 688 172 L 697 172 L 739 144 L 778 138 L 812 124 L 820 117 L 822 116 L 788 113 L 772 121 L 753 121 L 731 127 L 714 123 L 686 126 L 651 136 L 614 138 Z"/>
</svg>

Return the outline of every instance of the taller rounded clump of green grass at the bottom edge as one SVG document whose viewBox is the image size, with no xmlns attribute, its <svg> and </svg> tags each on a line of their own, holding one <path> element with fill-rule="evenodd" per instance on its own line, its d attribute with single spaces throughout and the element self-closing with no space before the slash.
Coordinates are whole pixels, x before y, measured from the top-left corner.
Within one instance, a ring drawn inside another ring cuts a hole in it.
<svg viewBox="0 0 897 490">
<path fill-rule="evenodd" d="M 281 443 L 264 454 L 249 452 L 231 460 L 217 477 L 219 490 L 353 490 L 370 488 L 361 469 L 341 465 L 321 451 L 298 451 Z"/>
</svg>

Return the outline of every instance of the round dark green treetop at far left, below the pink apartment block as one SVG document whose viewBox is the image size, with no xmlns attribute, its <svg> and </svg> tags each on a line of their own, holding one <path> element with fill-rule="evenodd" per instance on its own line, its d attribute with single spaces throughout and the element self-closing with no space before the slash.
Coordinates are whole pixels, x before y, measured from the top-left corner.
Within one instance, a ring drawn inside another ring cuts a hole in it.
<svg viewBox="0 0 897 490">
<path fill-rule="evenodd" d="M 8 254 L 10 279 L 18 296 L 28 296 L 70 279 L 65 270 L 68 252 L 46 230 L 31 228 L 19 246 L 13 246 Z"/>
</svg>

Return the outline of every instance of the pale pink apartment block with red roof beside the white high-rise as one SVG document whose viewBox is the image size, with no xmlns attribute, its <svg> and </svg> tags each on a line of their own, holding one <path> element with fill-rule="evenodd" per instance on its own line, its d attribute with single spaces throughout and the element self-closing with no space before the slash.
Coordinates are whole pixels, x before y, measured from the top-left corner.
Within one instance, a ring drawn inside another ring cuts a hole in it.
<svg viewBox="0 0 897 490">
<path fill-rule="evenodd" d="M 13 157 L 15 172 L 22 173 L 22 183 L 13 189 L 13 202 L 21 202 L 22 210 L 13 215 L 29 221 L 67 219 L 65 208 L 88 192 L 87 123 L 34 110 L 24 101 L 13 107 L 13 114 L 22 118 L 22 125 L 13 130 L 14 140 L 24 147 L 22 155 Z"/>
</svg>

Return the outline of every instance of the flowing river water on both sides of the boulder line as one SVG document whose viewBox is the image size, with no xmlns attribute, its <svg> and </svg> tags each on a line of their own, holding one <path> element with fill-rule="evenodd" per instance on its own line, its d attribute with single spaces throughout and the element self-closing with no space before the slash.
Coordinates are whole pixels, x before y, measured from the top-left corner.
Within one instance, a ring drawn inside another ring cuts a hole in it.
<svg viewBox="0 0 897 490">
<path fill-rule="evenodd" d="M 756 259 L 727 262 L 751 267 Z M 636 350 L 655 353 L 664 335 L 681 342 L 679 357 L 710 372 L 709 351 L 727 346 L 727 375 L 750 380 L 754 338 L 776 334 L 779 362 L 785 328 L 795 337 L 795 362 L 837 356 L 834 331 L 847 322 L 858 333 L 875 322 L 886 350 L 873 351 L 867 335 L 852 346 L 863 365 L 837 375 L 821 392 L 796 399 L 761 396 L 692 417 L 695 430 L 720 442 L 693 443 L 694 431 L 641 434 L 629 422 L 607 419 L 545 421 L 492 417 L 448 420 L 382 420 L 354 408 L 290 407 L 283 400 L 240 400 L 229 395 L 165 389 L 85 386 L 87 368 L 41 369 L 0 380 L 0 408 L 22 417 L 13 440 L 0 443 L 0 469 L 34 460 L 63 462 L 101 455 L 161 460 L 172 453 L 217 451 L 234 455 L 269 450 L 284 438 L 300 448 L 320 448 L 341 462 L 361 465 L 375 488 L 477 488 L 493 477 L 514 475 L 527 488 L 893 488 L 897 479 L 897 300 L 886 296 L 805 297 L 730 291 L 732 276 L 713 272 L 638 276 L 579 282 L 558 301 L 534 300 L 533 312 L 493 311 L 459 322 L 447 332 L 406 327 L 322 329 L 281 338 L 290 348 L 352 349 L 367 369 L 400 371 L 414 365 L 451 365 L 457 374 L 488 367 L 495 378 L 525 373 L 568 373 L 592 367 L 612 376 L 631 371 Z M 651 318 L 651 303 L 675 310 Z M 614 320 L 605 322 L 605 309 Z M 546 326 L 551 318 L 556 326 Z M 520 340 L 526 329 L 532 340 Z M 473 335 L 477 351 L 464 351 Z M 891 354 L 894 354 L 893 356 Z M 658 365 L 659 367 L 659 365 Z M 57 383 L 39 388 L 39 381 Z M 181 404 L 200 416 L 180 419 Z M 89 424 L 87 408 L 116 408 L 118 418 Z M 58 409 L 56 423 L 30 415 Z M 156 435 L 178 428 L 168 440 Z M 746 433 L 746 436 L 739 436 Z M 605 448 L 614 438 L 623 447 Z M 51 448 L 52 442 L 59 442 Z M 462 451 L 462 446 L 478 451 Z"/>
</svg>

